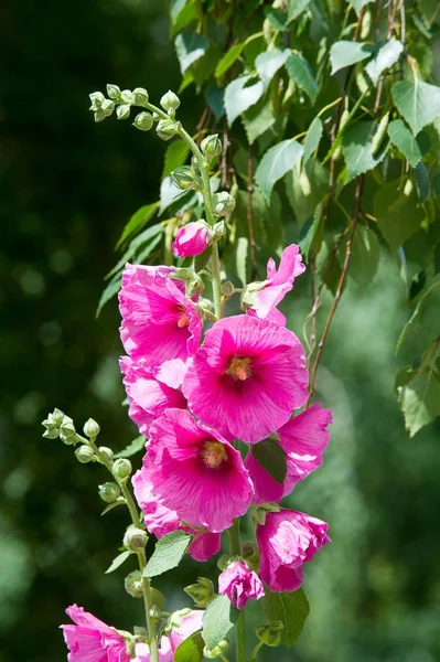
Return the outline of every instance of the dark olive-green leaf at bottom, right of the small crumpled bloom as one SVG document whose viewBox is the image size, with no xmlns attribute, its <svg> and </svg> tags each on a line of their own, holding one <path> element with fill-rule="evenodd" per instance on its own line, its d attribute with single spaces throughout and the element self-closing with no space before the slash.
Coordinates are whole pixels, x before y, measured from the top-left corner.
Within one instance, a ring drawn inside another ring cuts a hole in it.
<svg viewBox="0 0 440 662">
<path fill-rule="evenodd" d="M 282 643 L 289 648 L 293 645 L 310 612 L 309 601 L 302 588 L 294 592 L 271 592 L 265 586 L 261 607 L 269 622 L 281 621 L 285 626 L 281 630 Z"/>
</svg>

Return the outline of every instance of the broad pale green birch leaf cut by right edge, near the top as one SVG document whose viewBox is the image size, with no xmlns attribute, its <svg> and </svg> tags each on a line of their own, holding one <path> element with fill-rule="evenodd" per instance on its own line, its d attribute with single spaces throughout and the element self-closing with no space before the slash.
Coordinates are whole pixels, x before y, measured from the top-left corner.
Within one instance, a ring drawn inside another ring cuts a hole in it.
<svg viewBox="0 0 440 662">
<path fill-rule="evenodd" d="M 412 81 L 397 81 L 393 85 L 394 103 L 415 136 L 440 116 L 440 87 Z"/>
</svg>

